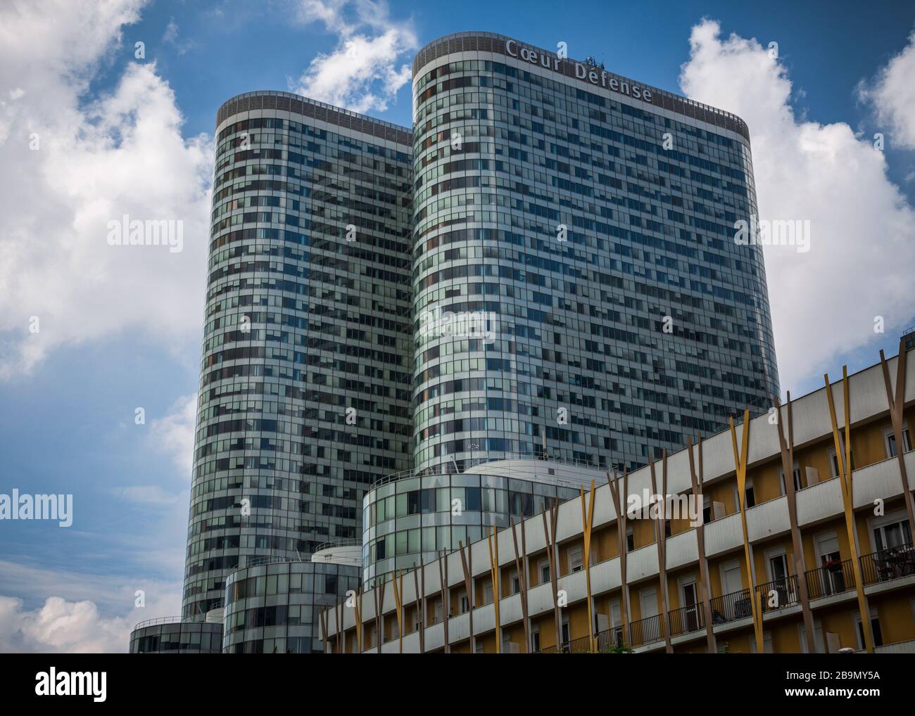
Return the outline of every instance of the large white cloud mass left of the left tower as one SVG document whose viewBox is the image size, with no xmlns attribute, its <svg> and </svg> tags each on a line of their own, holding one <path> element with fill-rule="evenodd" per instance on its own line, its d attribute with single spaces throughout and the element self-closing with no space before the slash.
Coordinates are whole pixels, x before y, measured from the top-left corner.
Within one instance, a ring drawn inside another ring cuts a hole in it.
<svg viewBox="0 0 915 716">
<path fill-rule="evenodd" d="M 155 61 L 121 43 L 142 5 L 0 6 L 0 378 L 128 328 L 173 348 L 199 332 L 212 147 L 182 136 Z M 111 67 L 113 90 L 89 97 Z M 182 222 L 183 250 L 110 245 L 124 216 Z"/>
</svg>

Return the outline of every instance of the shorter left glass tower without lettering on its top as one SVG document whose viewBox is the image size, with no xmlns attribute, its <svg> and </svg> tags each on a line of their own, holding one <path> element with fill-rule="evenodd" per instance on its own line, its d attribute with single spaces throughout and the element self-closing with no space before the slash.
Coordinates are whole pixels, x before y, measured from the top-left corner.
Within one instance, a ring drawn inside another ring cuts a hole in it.
<svg viewBox="0 0 915 716">
<path fill-rule="evenodd" d="M 286 92 L 217 115 L 183 611 L 361 536 L 410 466 L 410 134 Z"/>
</svg>

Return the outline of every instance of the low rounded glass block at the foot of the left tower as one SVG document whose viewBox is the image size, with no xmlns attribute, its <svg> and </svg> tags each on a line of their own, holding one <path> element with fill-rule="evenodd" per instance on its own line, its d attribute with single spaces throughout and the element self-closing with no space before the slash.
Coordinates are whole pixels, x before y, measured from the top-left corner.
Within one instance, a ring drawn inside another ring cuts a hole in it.
<svg viewBox="0 0 915 716">
<path fill-rule="evenodd" d="M 324 651 L 320 612 L 359 590 L 360 568 L 287 561 L 231 572 L 226 580 L 227 654 L 308 654 Z"/>
</svg>

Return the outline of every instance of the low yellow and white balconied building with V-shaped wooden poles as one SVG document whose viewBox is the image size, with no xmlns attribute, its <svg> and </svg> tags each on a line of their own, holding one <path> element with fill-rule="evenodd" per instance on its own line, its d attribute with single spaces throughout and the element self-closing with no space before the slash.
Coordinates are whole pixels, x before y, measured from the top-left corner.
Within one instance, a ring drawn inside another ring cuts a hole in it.
<svg viewBox="0 0 915 716">
<path fill-rule="evenodd" d="M 913 354 L 350 595 L 326 650 L 915 652 Z"/>
</svg>

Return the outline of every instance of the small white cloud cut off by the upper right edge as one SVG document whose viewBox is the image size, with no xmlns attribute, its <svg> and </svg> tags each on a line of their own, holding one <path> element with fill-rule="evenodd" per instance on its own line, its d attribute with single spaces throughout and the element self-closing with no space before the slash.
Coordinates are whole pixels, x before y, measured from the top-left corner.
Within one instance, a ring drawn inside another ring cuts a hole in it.
<svg viewBox="0 0 915 716">
<path fill-rule="evenodd" d="M 909 44 L 879 71 L 874 86 L 862 83 L 859 94 L 873 103 L 895 144 L 915 149 L 915 30 Z"/>
</svg>

